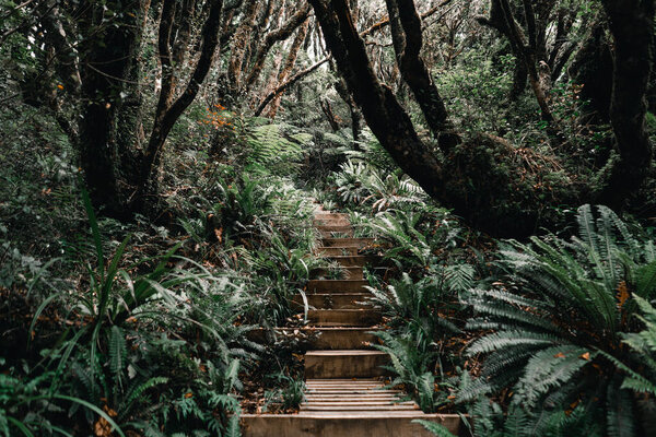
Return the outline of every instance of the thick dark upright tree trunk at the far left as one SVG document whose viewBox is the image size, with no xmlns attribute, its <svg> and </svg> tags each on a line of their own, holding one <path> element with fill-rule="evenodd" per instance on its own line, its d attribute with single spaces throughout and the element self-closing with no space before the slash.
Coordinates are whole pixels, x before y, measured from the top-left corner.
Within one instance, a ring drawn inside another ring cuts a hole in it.
<svg viewBox="0 0 656 437">
<path fill-rule="evenodd" d="M 105 7 L 121 10 L 119 3 Z M 82 19 L 82 32 L 94 36 L 81 50 L 81 97 L 85 106 L 80 121 L 80 165 L 94 206 L 108 216 L 124 218 L 128 210 L 119 189 L 122 174 L 117 121 L 142 27 L 138 25 L 139 10 L 124 14 L 120 25 L 104 24 L 104 15 L 103 5 L 91 5 Z"/>
</svg>

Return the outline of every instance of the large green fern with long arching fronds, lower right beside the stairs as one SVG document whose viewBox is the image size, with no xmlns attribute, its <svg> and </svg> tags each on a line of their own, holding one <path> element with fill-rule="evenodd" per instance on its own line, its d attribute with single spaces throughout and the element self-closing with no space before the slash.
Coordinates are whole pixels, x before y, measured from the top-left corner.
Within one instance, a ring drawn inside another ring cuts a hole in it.
<svg viewBox="0 0 656 437">
<path fill-rule="evenodd" d="M 500 264 L 511 272 L 513 288 L 468 294 L 478 314 L 468 327 L 494 332 L 469 346 L 469 355 L 487 357 L 460 399 L 508 385 L 530 409 L 606 399 L 607 405 L 584 404 L 604 413 L 609 435 L 635 435 L 632 398 L 608 356 L 635 359 L 620 333 L 635 328 L 630 292 L 647 298 L 656 291 L 654 244 L 640 243 L 609 209 L 598 206 L 597 215 L 589 205 L 579 209 L 579 236 L 572 241 L 511 241 Z"/>
</svg>

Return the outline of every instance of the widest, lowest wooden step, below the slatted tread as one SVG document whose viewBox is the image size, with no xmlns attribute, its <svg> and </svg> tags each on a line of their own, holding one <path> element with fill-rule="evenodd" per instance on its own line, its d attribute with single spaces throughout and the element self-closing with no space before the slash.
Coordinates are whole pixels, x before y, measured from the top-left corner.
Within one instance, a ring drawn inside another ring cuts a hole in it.
<svg viewBox="0 0 656 437">
<path fill-rule="evenodd" d="M 424 414 L 417 410 L 303 411 L 243 414 L 241 418 L 244 437 L 434 437 L 413 420 L 438 423 L 457 436 L 461 423 L 457 414 Z"/>
</svg>

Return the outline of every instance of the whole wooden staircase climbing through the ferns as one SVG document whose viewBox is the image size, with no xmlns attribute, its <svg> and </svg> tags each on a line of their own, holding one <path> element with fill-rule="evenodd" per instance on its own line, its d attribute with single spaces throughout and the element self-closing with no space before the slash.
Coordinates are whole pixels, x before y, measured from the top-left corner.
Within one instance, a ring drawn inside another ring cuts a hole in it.
<svg viewBox="0 0 656 437">
<path fill-rule="evenodd" d="M 321 236 L 317 255 L 343 267 L 345 279 L 309 281 L 311 306 L 306 328 L 319 335 L 315 350 L 305 354 L 305 402 L 297 414 L 245 414 L 246 437 L 391 437 L 432 436 L 413 420 L 437 422 L 458 433 L 457 415 L 424 414 L 399 390 L 385 390 L 387 354 L 371 347 L 371 333 L 380 322 L 380 312 L 363 305 L 370 292 L 363 267 L 372 261 L 359 255 L 371 243 L 353 238 L 347 214 L 319 212 L 315 225 Z"/>
</svg>

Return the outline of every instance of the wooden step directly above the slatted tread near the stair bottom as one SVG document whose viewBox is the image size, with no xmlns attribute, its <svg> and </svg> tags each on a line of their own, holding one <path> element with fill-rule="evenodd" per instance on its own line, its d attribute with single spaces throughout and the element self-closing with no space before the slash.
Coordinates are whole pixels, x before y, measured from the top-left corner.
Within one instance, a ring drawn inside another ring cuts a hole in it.
<svg viewBox="0 0 656 437">
<path fill-rule="evenodd" d="M 305 378 L 372 378 L 387 375 L 380 366 L 389 356 L 379 351 L 340 350 L 308 351 L 305 354 Z"/>
</svg>

